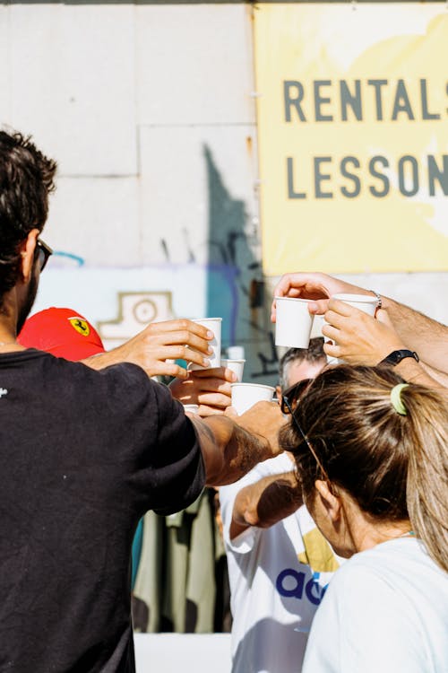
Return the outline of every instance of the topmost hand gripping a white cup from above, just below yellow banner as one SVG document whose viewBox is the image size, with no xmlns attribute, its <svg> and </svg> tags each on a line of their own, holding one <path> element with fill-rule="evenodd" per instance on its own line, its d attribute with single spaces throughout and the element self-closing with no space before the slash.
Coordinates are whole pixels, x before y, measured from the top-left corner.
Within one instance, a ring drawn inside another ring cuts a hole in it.
<svg viewBox="0 0 448 673">
<path fill-rule="evenodd" d="M 358 285 L 346 283 L 339 278 L 334 278 L 332 275 L 311 272 L 285 274 L 281 276 L 279 283 L 274 289 L 271 322 L 275 322 L 276 318 L 275 297 L 300 297 L 301 299 L 315 300 L 315 302 L 311 302 L 308 305 L 309 312 L 323 314 L 327 310 L 328 299 L 332 294 L 366 294 L 366 292 L 368 290 L 363 290 Z"/>
</svg>

